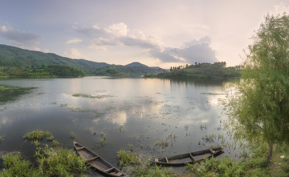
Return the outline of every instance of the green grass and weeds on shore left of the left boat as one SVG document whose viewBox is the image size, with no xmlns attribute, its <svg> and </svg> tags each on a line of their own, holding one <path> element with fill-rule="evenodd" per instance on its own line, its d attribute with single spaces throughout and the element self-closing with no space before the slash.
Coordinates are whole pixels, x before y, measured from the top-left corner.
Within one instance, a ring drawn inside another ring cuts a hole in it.
<svg viewBox="0 0 289 177">
<path fill-rule="evenodd" d="M 24 139 L 33 140 L 36 145 L 36 162 L 31 163 L 23 158 L 20 152 L 2 157 L 3 169 L 0 177 L 83 177 L 86 172 L 85 160 L 73 150 L 55 148 L 59 143 L 52 141 L 54 148 L 48 145 L 41 147 L 43 138 L 53 137 L 49 132 L 32 131 L 23 136 Z M 33 165 L 34 164 L 34 165 Z"/>
</svg>

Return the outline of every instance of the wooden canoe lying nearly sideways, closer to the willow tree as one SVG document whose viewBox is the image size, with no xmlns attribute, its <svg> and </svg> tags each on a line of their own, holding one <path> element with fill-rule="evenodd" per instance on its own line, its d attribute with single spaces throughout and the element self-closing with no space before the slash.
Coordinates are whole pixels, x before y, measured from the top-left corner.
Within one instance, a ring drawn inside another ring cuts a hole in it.
<svg viewBox="0 0 289 177">
<path fill-rule="evenodd" d="M 172 155 L 167 157 L 159 157 L 155 159 L 149 159 L 150 162 L 157 164 L 171 165 L 171 166 L 183 166 L 187 163 L 195 163 L 205 158 L 215 156 L 219 154 L 224 147 L 209 148 L 204 150 L 199 150 L 195 152 L 188 152 L 179 155 Z"/>
</svg>

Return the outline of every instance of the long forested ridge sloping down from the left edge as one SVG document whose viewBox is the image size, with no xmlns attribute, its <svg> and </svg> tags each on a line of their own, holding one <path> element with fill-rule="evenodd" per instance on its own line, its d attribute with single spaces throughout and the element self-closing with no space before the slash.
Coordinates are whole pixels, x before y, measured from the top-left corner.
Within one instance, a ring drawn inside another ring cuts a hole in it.
<svg viewBox="0 0 289 177">
<path fill-rule="evenodd" d="M 85 59 L 70 59 L 52 53 L 29 51 L 0 44 L 0 66 L 4 67 L 41 67 L 42 65 L 70 65 L 89 73 L 97 67 L 108 65 L 105 62 L 94 62 Z"/>
</svg>

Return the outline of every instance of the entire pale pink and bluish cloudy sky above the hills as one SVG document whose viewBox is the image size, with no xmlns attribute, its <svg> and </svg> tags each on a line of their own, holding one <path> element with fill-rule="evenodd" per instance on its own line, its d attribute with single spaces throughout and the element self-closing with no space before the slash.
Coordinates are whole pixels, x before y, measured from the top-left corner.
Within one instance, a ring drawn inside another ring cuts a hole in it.
<svg viewBox="0 0 289 177">
<path fill-rule="evenodd" d="M 289 0 L 0 0 L 0 44 L 109 64 L 242 63 Z"/>
</svg>

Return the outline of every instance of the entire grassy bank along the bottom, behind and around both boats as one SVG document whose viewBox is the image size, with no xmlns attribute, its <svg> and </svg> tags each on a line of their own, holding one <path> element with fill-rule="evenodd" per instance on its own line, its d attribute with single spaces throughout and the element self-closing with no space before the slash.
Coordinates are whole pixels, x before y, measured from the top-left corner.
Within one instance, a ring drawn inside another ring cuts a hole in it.
<svg viewBox="0 0 289 177">
<path fill-rule="evenodd" d="M 35 145 L 36 162 L 28 161 L 21 152 L 4 155 L 0 177 L 87 177 L 89 174 L 83 158 L 72 149 L 59 148 L 48 131 L 28 132 L 23 139 Z M 229 157 L 206 159 L 188 165 L 182 176 L 173 173 L 173 167 L 148 163 L 141 151 L 121 149 L 117 160 L 122 171 L 131 177 L 289 177 L 289 146 L 275 146 L 268 166 L 267 151 L 265 144 L 250 146 L 238 161 Z"/>
</svg>

